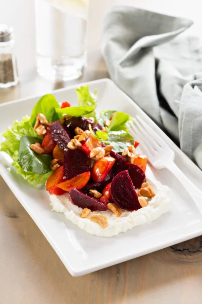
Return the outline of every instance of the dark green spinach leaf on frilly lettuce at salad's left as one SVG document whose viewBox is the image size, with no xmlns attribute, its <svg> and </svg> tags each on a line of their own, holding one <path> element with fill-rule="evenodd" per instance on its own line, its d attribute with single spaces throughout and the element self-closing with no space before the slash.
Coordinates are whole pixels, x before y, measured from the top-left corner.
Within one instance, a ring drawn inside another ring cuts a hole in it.
<svg viewBox="0 0 202 304">
<path fill-rule="evenodd" d="M 51 171 L 50 163 L 53 159 L 51 155 L 37 154 L 30 145 L 35 142 L 40 143 L 38 137 L 24 135 L 20 139 L 19 164 L 25 172 L 44 174 Z"/>
</svg>

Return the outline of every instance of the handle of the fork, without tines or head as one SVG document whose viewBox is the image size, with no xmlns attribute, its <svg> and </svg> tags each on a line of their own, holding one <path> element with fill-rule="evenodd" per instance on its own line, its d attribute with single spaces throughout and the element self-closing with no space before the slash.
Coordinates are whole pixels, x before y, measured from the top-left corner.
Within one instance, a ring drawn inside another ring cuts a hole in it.
<svg viewBox="0 0 202 304">
<path fill-rule="evenodd" d="M 169 162 L 166 168 L 177 177 L 202 213 L 202 192 L 186 177 L 173 161 Z"/>
</svg>

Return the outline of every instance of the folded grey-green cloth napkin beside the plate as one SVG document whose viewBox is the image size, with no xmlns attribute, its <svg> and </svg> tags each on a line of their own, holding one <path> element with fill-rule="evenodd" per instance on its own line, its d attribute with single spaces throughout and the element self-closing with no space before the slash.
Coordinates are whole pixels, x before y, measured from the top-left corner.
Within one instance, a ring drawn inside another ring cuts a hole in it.
<svg viewBox="0 0 202 304">
<path fill-rule="evenodd" d="M 104 18 L 102 51 L 111 79 L 202 169 L 199 42 L 179 35 L 191 25 L 185 18 L 114 7 Z"/>
</svg>

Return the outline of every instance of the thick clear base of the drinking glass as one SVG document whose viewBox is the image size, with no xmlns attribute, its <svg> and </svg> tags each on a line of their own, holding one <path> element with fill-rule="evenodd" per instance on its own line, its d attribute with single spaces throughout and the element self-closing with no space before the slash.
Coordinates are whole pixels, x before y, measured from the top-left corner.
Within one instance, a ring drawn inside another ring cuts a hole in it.
<svg viewBox="0 0 202 304">
<path fill-rule="evenodd" d="M 53 60 L 37 55 L 37 72 L 46 79 L 68 81 L 79 78 L 83 73 L 84 56 L 64 60 Z"/>
</svg>

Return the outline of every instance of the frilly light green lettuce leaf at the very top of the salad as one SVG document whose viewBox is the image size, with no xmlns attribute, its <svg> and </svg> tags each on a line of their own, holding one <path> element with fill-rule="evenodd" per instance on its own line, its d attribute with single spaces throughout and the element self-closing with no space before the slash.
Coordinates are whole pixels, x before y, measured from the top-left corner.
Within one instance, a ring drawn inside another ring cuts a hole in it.
<svg viewBox="0 0 202 304">
<path fill-rule="evenodd" d="M 95 122 L 97 122 L 96 119 L 96 113 L 95 109 L 97 107 L 97 90 L 94 90 L 94 94 L 89 91 L 89 85 L 86 85 L 85 87 L 81 86 L 80 89 L 76 89 L 77 98 L 78 98 L 78 105 L 79 106 L 92 106 L 94 107 L 94 110 L 91 113 L 84 114 L 85 117 L 94 117 Z"/>
</svg>

